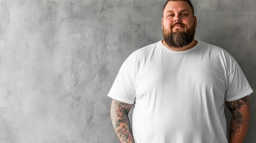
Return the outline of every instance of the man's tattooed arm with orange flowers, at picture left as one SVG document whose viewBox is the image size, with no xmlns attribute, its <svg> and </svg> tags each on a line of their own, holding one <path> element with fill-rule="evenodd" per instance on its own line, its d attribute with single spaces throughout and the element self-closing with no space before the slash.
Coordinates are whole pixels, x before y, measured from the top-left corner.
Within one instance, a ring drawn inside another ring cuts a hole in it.
<svg viewBox="0 0 256 143">
<path fill-rule="evenodd" d="M 129 123 L 128 113 L 133 104 L 112 100 L 110 117 L 116 136 L 121 143 L 132 143 L 133 136 Z"/>
</svg>

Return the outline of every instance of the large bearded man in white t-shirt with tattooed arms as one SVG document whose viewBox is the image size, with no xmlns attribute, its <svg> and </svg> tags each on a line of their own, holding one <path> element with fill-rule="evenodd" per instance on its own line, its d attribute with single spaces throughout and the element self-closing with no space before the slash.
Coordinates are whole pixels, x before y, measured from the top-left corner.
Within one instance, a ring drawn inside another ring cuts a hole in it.
<svg viewBox="0 0 256 143">
<path fill-rule="evenodd" d="M 196 41 L 195 28 L 189 0 L 166 1 L 164 41 L 138 49 L 122 64 L 108 94 L 120 142 L 228 142 L 225 102 L 232 112 L 229 142 L 243 142 L 253 91 L 235 59 Z"/>
</svg>

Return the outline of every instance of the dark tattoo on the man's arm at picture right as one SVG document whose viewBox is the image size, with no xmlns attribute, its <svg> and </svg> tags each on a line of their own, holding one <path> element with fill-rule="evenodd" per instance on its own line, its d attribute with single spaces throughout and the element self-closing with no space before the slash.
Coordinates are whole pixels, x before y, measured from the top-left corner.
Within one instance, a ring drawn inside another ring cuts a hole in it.
<svg viewBox="0 0 256 143">
<path fill-rule="evenodd" d="M 235 135 L 235 133 L 239 132 L 240 126 L 243 125 L 243 115 L 240 112 L 240 108 L 243 105 L 248 105 L 249 100 L 248 96 L 243 97 L 239 100 L 226 102 L 227 107 L 229 108 L 230 112 L 232 113 L 232 120 L 230 122 L 230 136 Z"/>
</svg>

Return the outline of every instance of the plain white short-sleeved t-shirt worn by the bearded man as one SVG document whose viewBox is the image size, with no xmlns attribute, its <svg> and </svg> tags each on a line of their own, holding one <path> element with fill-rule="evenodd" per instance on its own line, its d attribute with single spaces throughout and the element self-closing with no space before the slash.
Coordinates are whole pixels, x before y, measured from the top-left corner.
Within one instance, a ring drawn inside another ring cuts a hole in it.
<svg viewBox="0 0 256 143">
<path fill-rule="evenodd" d="M 134 104 L 137 143 L 224 143 L 225 101 L 252 92 L 224 49 L 199 41 L 186 51 L 172 51 L 159 41 L 129 55 L 108 96 Z"/>
</svg>

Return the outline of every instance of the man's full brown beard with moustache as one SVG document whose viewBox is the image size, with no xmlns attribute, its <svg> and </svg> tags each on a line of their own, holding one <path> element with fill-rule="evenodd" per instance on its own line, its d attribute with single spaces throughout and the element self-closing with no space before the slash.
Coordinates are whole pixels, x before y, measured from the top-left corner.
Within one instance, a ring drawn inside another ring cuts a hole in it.
<svg viewBox="0 0 256 143">
<path fill-rule="evenodd" d="M 181 23 L 177 23 L 181 24 Z M 176 25 L 176 24 L 175 24 Z M 184 24 L 181 24 L 184 26 Z M 183 48 L 186 45 L 189 45 L 195 37 L 196 27 L 195 24 L 190 29 L 187 29 L 183 32 L 177 30 L 176 32 L 172 32 L 172 28 L 170 32 L 168 32 L 165 27 L 163 27 L 163 35 L 164 40 L 172 48 Z"/>
</svg>

